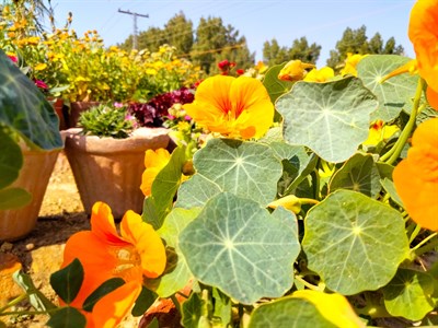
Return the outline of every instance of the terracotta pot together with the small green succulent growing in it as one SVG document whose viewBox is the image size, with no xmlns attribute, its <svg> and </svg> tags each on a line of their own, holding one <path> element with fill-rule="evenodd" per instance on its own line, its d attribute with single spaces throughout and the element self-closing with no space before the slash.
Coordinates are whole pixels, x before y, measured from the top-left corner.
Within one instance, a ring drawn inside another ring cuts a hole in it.
<svg viewBox="0 0 438 328">
<path fill-rule="evenodd" d="M 115 218 L 141 212 L 145 152 L 166 148 L 168 129 L 137 127 L 120 104 L 100 104 L 83 112 L 80 128 L 62 132 L 66 154 L 88 214 L 94 202 L 108 203 Z"/>
</svg>

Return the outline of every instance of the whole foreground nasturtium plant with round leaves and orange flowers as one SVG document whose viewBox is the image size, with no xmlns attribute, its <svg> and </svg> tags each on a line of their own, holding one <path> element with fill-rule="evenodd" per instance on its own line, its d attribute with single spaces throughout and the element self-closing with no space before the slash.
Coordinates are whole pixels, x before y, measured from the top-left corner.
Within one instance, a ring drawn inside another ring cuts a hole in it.
<svg viewBox="0 0 438 328">
<path fill-rule="evenodd" d="M 96 206 L 80 236 L 99 250 L 68 247 L 66 266 L 79 260 L 56 274 L 74 296 L 53 317 L 114 327 L 169 301 L 183 327 L 436 326 L 437 22 L 435 0 L 415 2 L 414 70 L 369 55 L 341 74 L 293 62 L 205 79 L 183 108 L 208 141 L 146 154 L 141 220 L 128 213 L 120 234 Z"/>
</svg>

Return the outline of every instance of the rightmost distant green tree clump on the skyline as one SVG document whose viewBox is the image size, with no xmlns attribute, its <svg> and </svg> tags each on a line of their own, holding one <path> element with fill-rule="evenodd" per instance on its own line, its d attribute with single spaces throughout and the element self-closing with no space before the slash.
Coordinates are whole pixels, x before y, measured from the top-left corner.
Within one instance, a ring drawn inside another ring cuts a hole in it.
<svg viewBox="0 0 438 328">
<path fill-rule="evenodd" d="M 395 45 L 394 37 L 383 42 L 380 33 L 376 33 L 369 40 L 367 37 L 367 27 L 365 25 L 357 30 L 347 27 L 343 37 L 336 43 L 336 49 L 330 51 L 327 66 L 336 68 L 347 58 L 347 54 L 396 54 L 402 55 L 404 51 L 401 45 Z"/>
</svg>

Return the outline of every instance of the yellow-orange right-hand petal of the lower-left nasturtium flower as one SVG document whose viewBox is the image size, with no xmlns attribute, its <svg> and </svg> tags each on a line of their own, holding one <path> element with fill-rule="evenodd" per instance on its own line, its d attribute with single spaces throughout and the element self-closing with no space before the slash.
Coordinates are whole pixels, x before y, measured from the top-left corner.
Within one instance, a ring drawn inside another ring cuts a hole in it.
<svg viewBox="0 0 438 328">
<path fill-rule="evenodd" d="M 132 244 L 141 258 L 143 274 L 157 278 L 163 273 L 166 257 L 163 242 L 152 225 L 134 211 L 127 211 L 120 222 L 122 236 Z"/>
</svg>

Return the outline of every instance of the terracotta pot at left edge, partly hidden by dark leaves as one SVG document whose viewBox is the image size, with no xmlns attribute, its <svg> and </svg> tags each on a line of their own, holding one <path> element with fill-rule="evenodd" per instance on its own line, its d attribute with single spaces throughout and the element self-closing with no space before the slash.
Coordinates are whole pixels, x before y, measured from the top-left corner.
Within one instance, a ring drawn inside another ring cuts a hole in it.
<svg viewBox="0 0 438 328">
<path fill-rule="evenodd" d="M 0 210 L 0 241 L 22 238 L 34 229 L 59 152 L 34 151 L 22 147 L 23 167 L 12 187 L 26 189 L 32 194 L 32 201 L 20 209 Z"/>
</svg>

